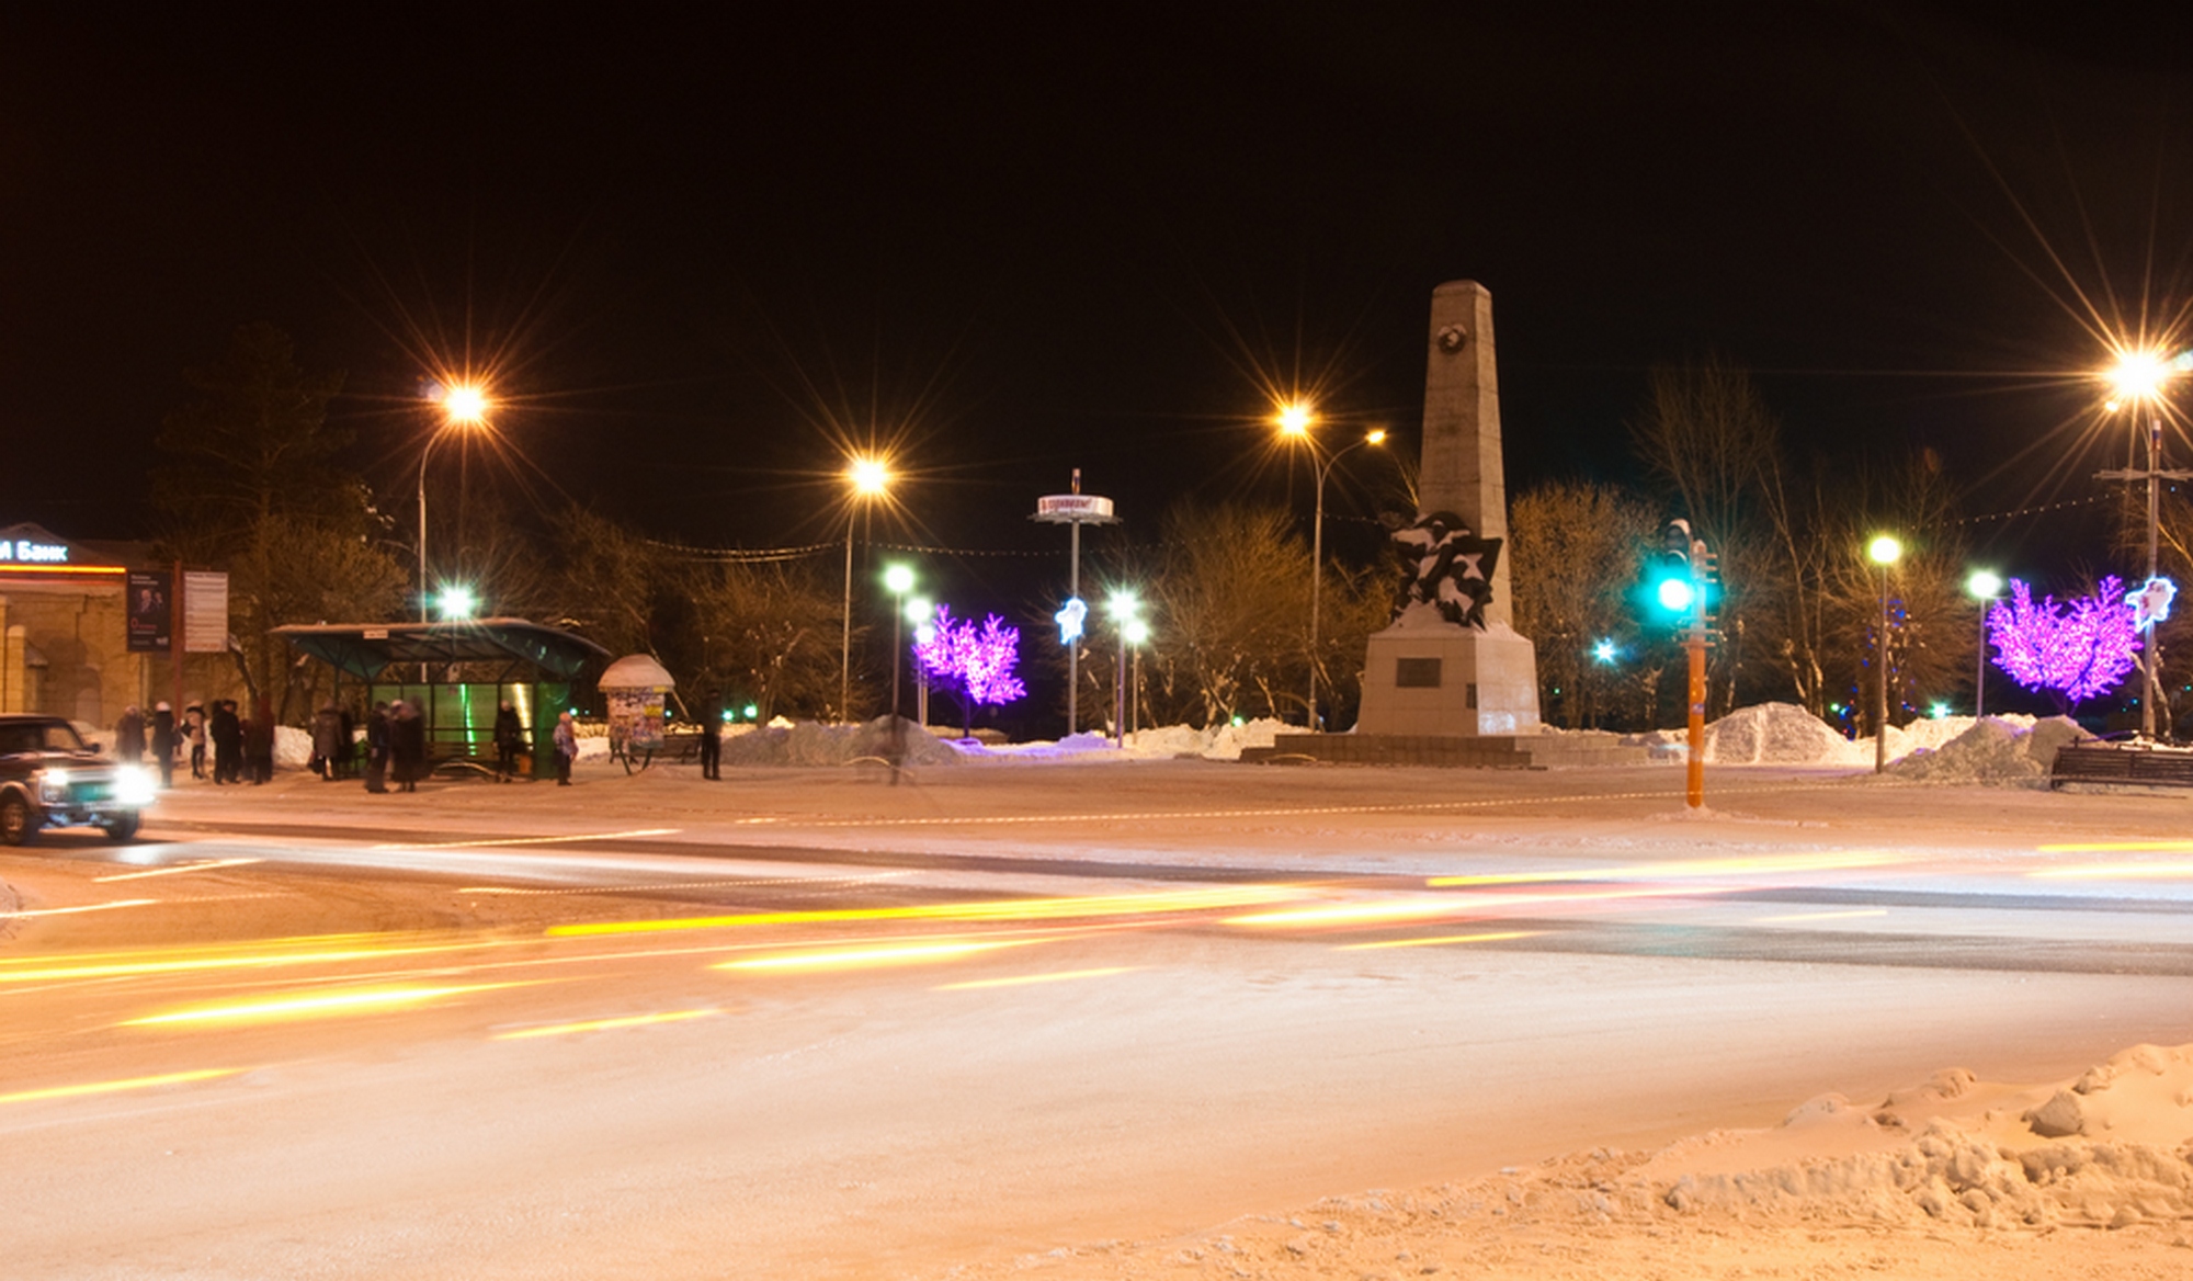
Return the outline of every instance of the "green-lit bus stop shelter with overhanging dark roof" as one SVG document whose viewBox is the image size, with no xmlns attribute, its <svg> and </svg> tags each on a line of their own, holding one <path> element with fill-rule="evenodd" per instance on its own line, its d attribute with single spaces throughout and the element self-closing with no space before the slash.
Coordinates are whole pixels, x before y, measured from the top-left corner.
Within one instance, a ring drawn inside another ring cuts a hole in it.
<svg viewBox="0 0 2193 1281">
<path fill-rule="evenodd" d="M 274 634 L 364 687 L 366 704 L 404 700 L 425 717 L 428 759 L 489 761 L 496 711 L 518 708 L 535 776 L 555 772 L 557 713 L 583 693 L 610 651 L 586 636 L 526 619 L 452 623 L 314 623 Z"/>
</svg>

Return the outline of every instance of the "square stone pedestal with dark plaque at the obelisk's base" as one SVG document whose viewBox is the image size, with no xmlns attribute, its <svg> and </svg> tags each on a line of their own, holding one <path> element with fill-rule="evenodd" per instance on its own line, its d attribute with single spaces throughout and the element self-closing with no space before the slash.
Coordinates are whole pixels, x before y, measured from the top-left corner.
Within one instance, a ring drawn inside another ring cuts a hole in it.
<svg viewBox="0 0 2193 1281">
<path fill-rule="evenodd" d="M 1456 627 L 1404 614 L 1371 634 L 1357 735 L 1537 733 L 1537 654 L 1507 623 Z"/>
</svg>

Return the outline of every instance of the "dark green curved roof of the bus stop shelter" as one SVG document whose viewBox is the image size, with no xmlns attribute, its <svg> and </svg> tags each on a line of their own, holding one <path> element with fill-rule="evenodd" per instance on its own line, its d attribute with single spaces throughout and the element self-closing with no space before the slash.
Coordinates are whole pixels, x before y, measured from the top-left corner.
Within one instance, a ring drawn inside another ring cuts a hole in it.
<svg viewBox="0 0 2193 1281">
<path fill-rule="evenodd" d="M 390 667 L 471 662 L 496 667 L 496 680 L 572 680 L 610 651 L 586 636 L 526 619 L 463 623 L 314 623 L 274 627 L 298 651 L 355 676 L 379 680 Z"/>
</svg>

